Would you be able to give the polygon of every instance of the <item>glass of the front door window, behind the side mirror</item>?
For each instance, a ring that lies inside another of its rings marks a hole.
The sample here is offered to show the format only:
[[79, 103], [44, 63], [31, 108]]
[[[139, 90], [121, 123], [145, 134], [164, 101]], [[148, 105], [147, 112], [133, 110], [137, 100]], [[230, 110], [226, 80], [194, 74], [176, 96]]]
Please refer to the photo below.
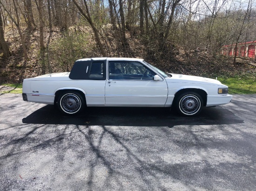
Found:
[[138, 62], [110, 61], [108, 78], [115, 80], [153, 80], [155, 72]]

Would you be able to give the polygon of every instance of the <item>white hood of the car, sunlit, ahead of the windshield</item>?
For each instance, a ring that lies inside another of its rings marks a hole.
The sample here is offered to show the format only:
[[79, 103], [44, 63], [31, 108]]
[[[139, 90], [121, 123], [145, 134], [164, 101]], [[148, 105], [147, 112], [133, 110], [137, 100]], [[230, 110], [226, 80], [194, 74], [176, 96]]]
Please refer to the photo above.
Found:
[[218, 80], [214, 80], [207, 77], [199, 77], [199, 76], [188, 76], [188, 75], [182, 75], [182, 74], [170, 74], [172, 77], [165, 78], [167, 82], [172, 83], [200, 83], [200, 84], [215, 84], [219, 85], [222, 84]]

